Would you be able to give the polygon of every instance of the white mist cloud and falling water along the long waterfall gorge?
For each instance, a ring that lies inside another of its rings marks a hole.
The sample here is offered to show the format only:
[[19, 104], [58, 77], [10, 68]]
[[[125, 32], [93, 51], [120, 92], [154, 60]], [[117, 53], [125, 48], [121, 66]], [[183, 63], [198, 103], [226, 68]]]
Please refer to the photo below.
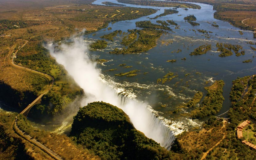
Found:
[[129, 116], [136, 129], [160, 143], [162, 147], [170, 149], [175, 139], [170, 128], [163, 120], [156, 117], [152, 109], [145, 103], [129, 99], [125, 93], [118, 94], [115, 89], [102, 82], [100, 70], [96, 69], [96, 63], [89, 59], [89, 50], [83, 40], [73, 38], [72, 44], [61, 44], [59, 46], [61, 50], [58, 51], [54, 50], [54, 47], [53, 44], [49, 44], [46, 48], [85, 92], [81, 106], [95, 101], [115, 105]]

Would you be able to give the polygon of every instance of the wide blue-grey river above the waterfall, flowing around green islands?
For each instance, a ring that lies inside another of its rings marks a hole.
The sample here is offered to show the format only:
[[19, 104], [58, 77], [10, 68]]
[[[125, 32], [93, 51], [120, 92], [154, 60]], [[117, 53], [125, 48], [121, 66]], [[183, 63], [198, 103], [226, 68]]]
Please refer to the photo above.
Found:
[[[93, 4], [103, 5], [101, 2], [105, 1], [107, 0], [96, 0]], [[115, 0], [108, 0], [108, 2], [118, 3]], [[186, 113], [190, 112], [191, 109], [182, 108], [178, 113], [172, 113], [179, 106], [188, 102], [196, 91], [202, 91], [206, 95], [204, 87], [211, 85], [214, 80], [223, 80], [225, 82], [223, 88], [225, 101], [223, 108], [216, 114], [220, 115], [230, 108], [229, 92], [232, 87], [232, 80], [256, 73], [256, 54], [250, 48], [250, 46], [256, 48], [256, 45], [249, 44], [249, 42], [255, 43], [253, 32], [242, 31], [243, 35], [240, 35], [238, 31], [241, 30], [239, 28], [213, 17], [215, 12], [213, 6], [202, 3], [195, 4], [202, 8], [188, 10], [178, 8], [179, 13], [157, 19], [149, 18], [155, 17], [163, 13], [164, 9], [170, 8], [124, 4], [130, 7], [160, 10], [152, 15], [138, 19], [110, 23], [108, 27], [111, 27], [111, 30], [104, 28], [95, 33], [84, 35], [84, 42], [89, 44], [101, 39], [100, 36], [115, 30], [127, 32], [128, 29], [135, 29], [136, 21], [150, 20], [152, 23], [157, 24], [156, 20], [174, 20], [179, 25], [178, 29], [175, 29], [175, 26], [170, 26], [173, 31], [167, 31], [167, 34], [163, 34], [157, 41], [157, 46], [147, 52], [140, 54], [109, 54], [109, 51], [115, 48], [124, 47], [120, 44], [122, 41], [121, 35], [117, 35], [113, 42], [107, 41], [108, 47], [106, 49], [89, 51], [92, 59], [109, 60], [104, 64], [97, 65], [97, 68], [101, 70], [100, 78], [104, 83], [118, 88], [120, 91], [125, 91], [127, 97], [131, 99], [136, 99], [152, 106], [157, 115], [164, 117], [166, 123], [172, 124], [176, 134], [189, 128], [200, 126], [202, 123], [199, 120], [192, 121], [187, 116]], [[199, 26], [193, 27], [183, 20], [189, 14], [193, 14], [197, 18], [196, 22], [200, 24]], [[213, 23], [218, 24], [219, 28], [212, 26], [211, 24]], [[198, 32], [197, 29], [208, 31], [209, 36]], [[245, 55], [237, 57], [233, 54], [228, 57], [219, 57], [220, 52], [217, 52], [216, 47], [218, 42], [241, 45], [245, 50]], [[212, 45], [211, 51], [203, 55], [189, 55], [195, 48], [206, 43]], [[181, 51], [177, 53], [178, 50]], [[186, 58], [186, 60], [181, 60], [182, 58]], [[177, 61], [174, 63], [166, 62], [171, 59], [176, 59]], [[252, 59], [252, 62], [242, 63], [242, 61], [248, 59]], [[132, 68], [119, 66], [123, 63], [127, 66], [132, 66]], [[108, 71], [109, 69], [116, 70]], [[137, 76], [115, 76], [115, 74], [134, 69], [140, 70]], [[171, 81], [166, 81], [164, 84], [161, 82], [157, 84], [157, 79], [163, 78], [168, 72], [173, 72], [178, 76]], [[166, 105], [166, 107], [161, 107], [161, 105]]]

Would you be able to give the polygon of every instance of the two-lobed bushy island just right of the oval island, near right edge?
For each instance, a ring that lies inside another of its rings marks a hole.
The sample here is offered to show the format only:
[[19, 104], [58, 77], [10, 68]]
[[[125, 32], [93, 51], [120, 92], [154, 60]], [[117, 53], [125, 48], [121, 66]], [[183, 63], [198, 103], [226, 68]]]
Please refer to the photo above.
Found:
[[[218, 47], [217, 51], [221, 51], [221, 54], [219, 54], [219, 57], [226, 57], [226, 56], [231, 56], [233, 55], [232, 50], [234, 51], [236, 56], [240, 56], [240, 55], [244, 55], [245, 51], [242, 50], [243, 47], [236, 44], [236, 45], [232, 45], [232, 44], [227, 44], [227, 43], [217, 43], [216, 47]], [[239, 50], [241, 50], [241, 52], [239, 52]]]

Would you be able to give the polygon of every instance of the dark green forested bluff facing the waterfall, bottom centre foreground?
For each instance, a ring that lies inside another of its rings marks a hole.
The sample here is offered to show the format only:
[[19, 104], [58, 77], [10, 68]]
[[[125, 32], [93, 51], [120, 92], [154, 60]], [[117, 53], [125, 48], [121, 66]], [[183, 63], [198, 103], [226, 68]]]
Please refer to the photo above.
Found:
[[105, 102], [80, 108], [70, 136], [101, 159], [171, 159], [171, 152], [137, 131], [121, 109]]

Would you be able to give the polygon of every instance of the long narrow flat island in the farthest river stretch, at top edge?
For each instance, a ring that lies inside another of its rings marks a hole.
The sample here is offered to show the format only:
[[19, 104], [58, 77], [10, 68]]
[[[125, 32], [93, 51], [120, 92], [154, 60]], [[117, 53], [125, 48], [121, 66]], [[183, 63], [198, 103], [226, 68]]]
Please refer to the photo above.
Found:
[[144, 1], [144, 0], [117, 0], [120, 3], [128, 3], [133, 5], [142, 6], [157, 6], [157, 7], [175, 7], [175, 8], [193, 8], [201, 9], [201, 6], [190, 3], [179, 3], [179, 2], [167, 2], [167, 1]]

